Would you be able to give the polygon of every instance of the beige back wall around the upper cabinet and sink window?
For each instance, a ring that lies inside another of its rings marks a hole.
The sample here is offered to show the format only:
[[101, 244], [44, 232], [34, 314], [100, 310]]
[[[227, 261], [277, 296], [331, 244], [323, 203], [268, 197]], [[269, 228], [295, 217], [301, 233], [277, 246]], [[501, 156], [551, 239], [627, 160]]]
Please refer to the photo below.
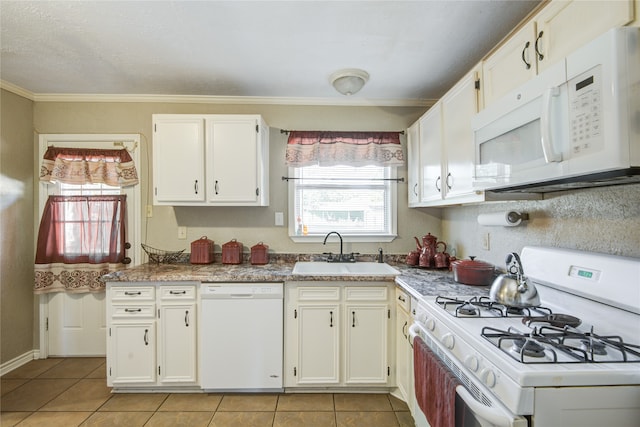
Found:
[[[152, 145], [151, 115], [153, 113], [224, 113], [262, 114], [271, 126], [270, 132], [270, 205], [268, 207], [153, 207], [152, 218], [142, 218], [143, 241], [161, 249], [189, 251], [191, 241], [208, 236], [220, 245], [237, 238], [246, 247], [263, 241], [278, 253], [320, 253], [322, 244], [295, 244], [288, 237], [287, 227], [274, 225], [275, 212], [285, 213], [287, 221], [288, 174], [284, 165], [285, 134], [280, 129], [294, 130], [403, 130], [426, 108], [409, 107], [335, 107], [283, 105], [213, 105], [179, 103], [64, 103], [37, 102], [34, 123], [38, 133], [140, 133], [142, 134], [142, 164], [140, 176], [143, 205], [150, 198]], [[407, 177], [406, 168], [398, 171]], [[430, 231], [440, 233], [440, 211], [407, 208], [407, 184], [398, 184], [398, 234], [391, 243], [349, 244], [345, 252], [406, 253], [415, 243], [413, 236]], [[144, 209], [143, 209], [144, 212]], [[144, 214], [143, 214], [144, 215]], [[177, 239], [177, 227], [186, 226], [187, 239]], [[247, 250], [247, 248], [245, 248]], [[333, 252], [333, 248], [329, 249]]]

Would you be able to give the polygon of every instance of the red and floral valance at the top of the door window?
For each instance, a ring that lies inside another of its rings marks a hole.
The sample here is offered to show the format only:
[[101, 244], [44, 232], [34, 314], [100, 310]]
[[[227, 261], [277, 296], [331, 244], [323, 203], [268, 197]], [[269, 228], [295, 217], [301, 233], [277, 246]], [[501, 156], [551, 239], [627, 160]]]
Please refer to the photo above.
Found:
[[127, 187], [138, 183], [138, 172], [126, 149], [49, 147], [42, 159], [40, 181]]

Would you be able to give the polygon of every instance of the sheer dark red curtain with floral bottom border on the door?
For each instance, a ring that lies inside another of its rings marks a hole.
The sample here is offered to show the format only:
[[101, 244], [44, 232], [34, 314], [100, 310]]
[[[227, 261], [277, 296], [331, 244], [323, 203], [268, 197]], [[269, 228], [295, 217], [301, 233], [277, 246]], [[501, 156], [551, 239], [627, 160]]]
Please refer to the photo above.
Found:
[[126, 196], [49, 196], [38, 232], [35, 293], [97, 292], [123, 267]]

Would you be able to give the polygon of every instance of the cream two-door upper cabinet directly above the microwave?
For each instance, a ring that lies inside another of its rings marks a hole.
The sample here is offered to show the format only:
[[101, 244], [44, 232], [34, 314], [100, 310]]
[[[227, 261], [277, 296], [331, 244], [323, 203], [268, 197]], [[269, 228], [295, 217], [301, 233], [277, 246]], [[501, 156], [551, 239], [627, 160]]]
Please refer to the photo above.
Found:
[[555, 0], [483, 62], [488, 106], [573, 50], [633, 20], [633, 0]]

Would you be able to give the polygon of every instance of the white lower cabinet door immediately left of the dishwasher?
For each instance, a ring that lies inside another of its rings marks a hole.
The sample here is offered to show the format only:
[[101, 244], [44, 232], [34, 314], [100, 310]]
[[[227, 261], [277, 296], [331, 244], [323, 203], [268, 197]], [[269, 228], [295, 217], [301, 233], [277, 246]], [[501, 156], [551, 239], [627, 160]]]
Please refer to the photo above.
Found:
[[160, 307], [158, 362], [161, 383], [196, 382], [196, 319], [195, 302]]

